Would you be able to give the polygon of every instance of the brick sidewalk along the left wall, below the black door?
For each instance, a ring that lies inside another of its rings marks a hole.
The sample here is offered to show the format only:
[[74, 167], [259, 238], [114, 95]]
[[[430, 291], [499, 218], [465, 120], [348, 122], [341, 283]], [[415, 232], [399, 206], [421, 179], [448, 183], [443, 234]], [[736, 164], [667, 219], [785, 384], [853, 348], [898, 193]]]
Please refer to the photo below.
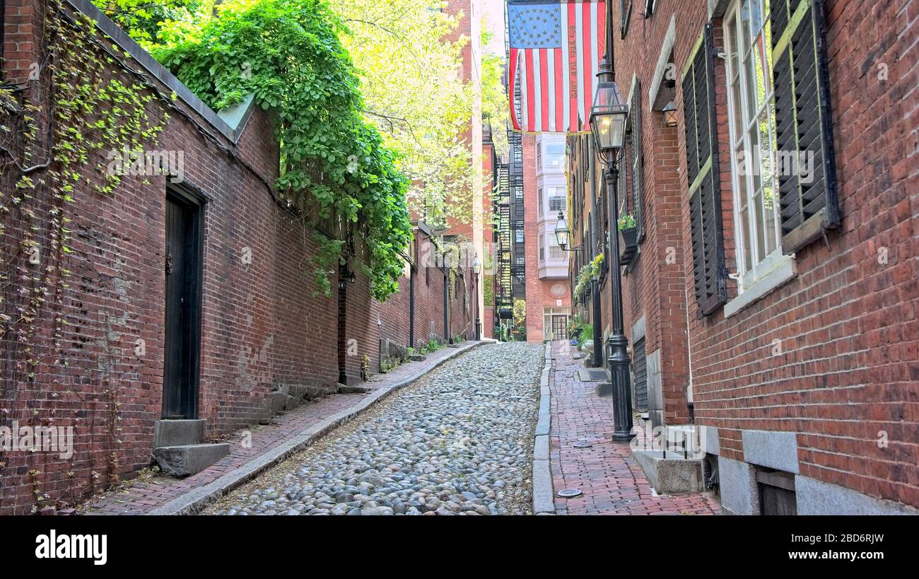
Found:
[[[471, 345], [467, 342], [463, 346]], [[467, 348], [461, 347], [465, 350]], [[229, 438], [230, 454], [225, 458], [210, 465], [204, 471], [193, 474], [184, 479], [173, 479], [157, 476], [143, 481], [132, 481], [125, 488], [115, 489], [90, 501], [90, 504], [79, 509], [85, 515], [143, 515], [154, 508], [163, 506], [173, 499], [212, 483], [227, 472], [234, 471], [244, 464], [265, 455], [273, 448], [287, 442], [290, 438], [300, 435], [304, 430], [314, 426], [326, 417], [346, 411], [348, 408], [361, 403], [370, 392], [389, 387], [413, 374], [434, 369], [438, 362], [459, 353], [457, 348], [445, 347], [433, 354], [429, 354], [424, 362], [407, 362], [388, 374], [372, 377], [360, 386], [368, 388], [369, 392], [335, 394], [304, 404], [300, 408], [285, 414], [279, 414], [267, 426], [252, 426], [248, 432], [252, 434], [252, 445], [245, 448], [242, 444], [244, 432], [236, 432]]]

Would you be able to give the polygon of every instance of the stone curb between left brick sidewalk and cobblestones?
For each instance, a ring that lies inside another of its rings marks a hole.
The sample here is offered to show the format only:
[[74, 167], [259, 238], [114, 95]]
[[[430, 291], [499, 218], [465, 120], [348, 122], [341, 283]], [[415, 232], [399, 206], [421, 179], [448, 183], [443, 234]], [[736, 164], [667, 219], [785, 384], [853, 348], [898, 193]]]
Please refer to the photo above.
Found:
[[419, 370], [408, 378], [372, 392], [366, 398], [361, 399], [357, 404], [328, 416], [323, 421], [302, 431], [296, 437], [290, 438], [279, 447], [268, 450], [265, 454], [255, 457], [255, 459], [250, 460], [233, 471], [227, 472], [215, 481], [211, 481], [210, 483], [188, 491], [186, 494], [177, 496], [165, 505], [154, 508], [149, 513], [146, 513], [146, 515], [194, 515], [198, 513], [206, 506], [215, 503], [224, 494], [228, 494], [244, 483], [248, 483], [257, 475], [267, 471], [267, 469], [275, 466], [278, 462], [289, 458], [289, 456], [295, 452], [309, 447], [331, 430], [334, 430], [336, 426], [341, 426], [350, 422], [357, 417], [358, 414], [367, 411], [371, 406], [379, 403], [380, 400], [386, 398], [392, 392], [396, 392], [412, 384], [415, 380], [420, 379], [431, 370], [437, 369], [448, 360], [456, 358], [474, 347], [482, 346], [482, 344], [485, 344], [485, 342], [472, 342], [468, 346], [459, 346], [459, 348], [451, 352], [448, 356], [437, 360], [430, 368]]

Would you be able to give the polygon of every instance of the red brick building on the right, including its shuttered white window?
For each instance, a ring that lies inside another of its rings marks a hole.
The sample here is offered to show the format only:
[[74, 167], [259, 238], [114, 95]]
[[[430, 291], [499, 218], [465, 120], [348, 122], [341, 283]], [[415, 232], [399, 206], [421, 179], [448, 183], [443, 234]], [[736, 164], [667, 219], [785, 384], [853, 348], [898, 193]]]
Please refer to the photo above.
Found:
[[[613, 11], [619, 199], [642, 237], [626, 335], [652, 423], [698, 426], [726, 512], [914, 513], [919, 4]], [[592, 146], [569, 142], [574, 232], [606, 221]]]

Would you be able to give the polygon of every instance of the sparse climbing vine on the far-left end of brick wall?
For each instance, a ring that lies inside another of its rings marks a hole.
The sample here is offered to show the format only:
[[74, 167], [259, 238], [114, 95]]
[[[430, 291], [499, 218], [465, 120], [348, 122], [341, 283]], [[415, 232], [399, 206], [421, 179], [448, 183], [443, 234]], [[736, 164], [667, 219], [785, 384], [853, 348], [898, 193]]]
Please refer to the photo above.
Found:
[[[6, 367], [0, 414], [23, 410], [15, 397], [39, 368], [67, 366], [64, 298], [71, 272], [71, 213], [79, 195], [109, 195], [121, 173], [109, 167], [111, 153], [141, 154], [156, 142], [168, 115], [142, 82], [122, 82], [111, 72], [119, 50], [103, 40], [89, 18], [68, 12], [62, 0], [45, 3], [38, 62], [21, 84], [0, 86], [0, 341]], [[129, 76], [130, 78], [130, 76]], [[38, 90], [30, 90], [38, 88]], [[36, 98], [35, 103], [31, 98]], [[45, 321], [50, 322], [50, 326]], [[106, 388], [110, 408], [108, 471], [118, 471], [120, 415], [117, 392]], [[51, 398], [82, 395], [61, 388]], [[94, 399], [90, 402], [97, 402]], [[12, 410], [11, 410], [12, 408]], [[28, 419], [51, 424], [54, 410]], [[96, 427], [90, 425], [93, 431]], [[0, 469], [5, 465], [0, 460]], [[36, 469], [32, 471], [40, 472]], [[37, 504], [47, 498], [33, 474]], [[0, 477], [2, 478], [2, 477]], [[114, 477], [113, 477], [114, 478]]]

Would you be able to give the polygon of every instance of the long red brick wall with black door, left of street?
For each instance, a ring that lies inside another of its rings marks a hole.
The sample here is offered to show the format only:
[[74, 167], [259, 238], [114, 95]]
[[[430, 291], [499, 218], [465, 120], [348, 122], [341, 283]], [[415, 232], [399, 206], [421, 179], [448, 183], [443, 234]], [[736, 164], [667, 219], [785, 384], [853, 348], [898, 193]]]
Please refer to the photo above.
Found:
[[[48, 127], [54, 91], [64, 90], [51, 89], [46, 74], [29, 78], [33, 62], [45, 56], [43, 29], [51, 17], [45, 7], [38, 0], [8, 0], [3, 15], [4, 79], [18, 83], [22, 101], [38, 107], [38, 135]], [[269, 418], [272, 391], [280, 387], [331, 393], [340, 381], [361, 380], [365, 364], [377, 371], [381, 338], [409, 345], [413, 307], [416, 341], [472, 337], [472, 276], [462, 270], [456, 275], [445, 332], [448, 276], [408, 253], [414, 260], [414, 305], [407, 298], [407, 277], [391, 301], [374, 301], [369, 279], [356, 264], [350, 264], [351, 280], [332, 272], [333, 295], [323, 296], [310, 273], [317, 247], [309, 227], [273, 195], [278, 142], [270, 112], [250, 103], [215, 113], [89, 2], [73, 0], [68, 10], [94, 18], [128, 53], [124, 66], [112, 64], [101, 74], [122, 83], [148, 79], [147, 94], [159, 92], [167, 100], [176, 93], [155, 147], [184, 153], [184, 178], [173, 183], [168, 176], [124, 176], [114, 192], [100, 195], [91, 187], [104, 178], [95, 162], [79, 169], [74, 202], [64, 206], [73, 220], [72, 253], [60, 264], [73, 272], [69, 286], [51, 274], [58, 297], [39, 309], [28, 350], [8, 333], [0, 357], [0, 426], [74, 426], [74, 453], [67, 459], [49, 452], [0, 453], [0, 513], [28, 513], [38, 496], [46, 504], [73, 504], [150, 464], [154, 423], [168, 414], [164, 372], [171, 290], [165, 272], [179, 259], [199, 273], [191, 284], [197, 290], [188, 294], [197, 303], [189, 306], [193, 323], [182, 349], [191, 352], [195, 375], [182, 394], [190, 398], [183, 412], [207, 421], [206, 439]], [[155, 100], [149, 105], [157, 106]], [[13, 153], [21, 157], [23, 143], [14, 144], [19, 149]], [[39, 137], [35, 158], [48, 146]], [[14, 168], [5, 167], [4, 190], [18, 179]], [[52, 203], [44, 187], [36, 187], [33, 197], [39, 210]], [[186, 261], [170, 249], [174, 219], [189, 231], [198, 228], [185, 238], [199, 248], [197, 263], [195, 255]], [[27, 223], [23, 211], [4, 213], [3, 251], [14, 258], [5, 266], [6, 276], [47, 265], [29, 262], [17, 247], [17, 233]], [[415, 254], [424, 240], [425, 234], [417, 236]], [[46, 234], [38, 236], [42, 249], [50, 243]], [[5, 289], [3, 297], [6, 314], [22, 307], [22, 296]], [[26, 367], [28, 359], [40, 360], [34, 371]]]

